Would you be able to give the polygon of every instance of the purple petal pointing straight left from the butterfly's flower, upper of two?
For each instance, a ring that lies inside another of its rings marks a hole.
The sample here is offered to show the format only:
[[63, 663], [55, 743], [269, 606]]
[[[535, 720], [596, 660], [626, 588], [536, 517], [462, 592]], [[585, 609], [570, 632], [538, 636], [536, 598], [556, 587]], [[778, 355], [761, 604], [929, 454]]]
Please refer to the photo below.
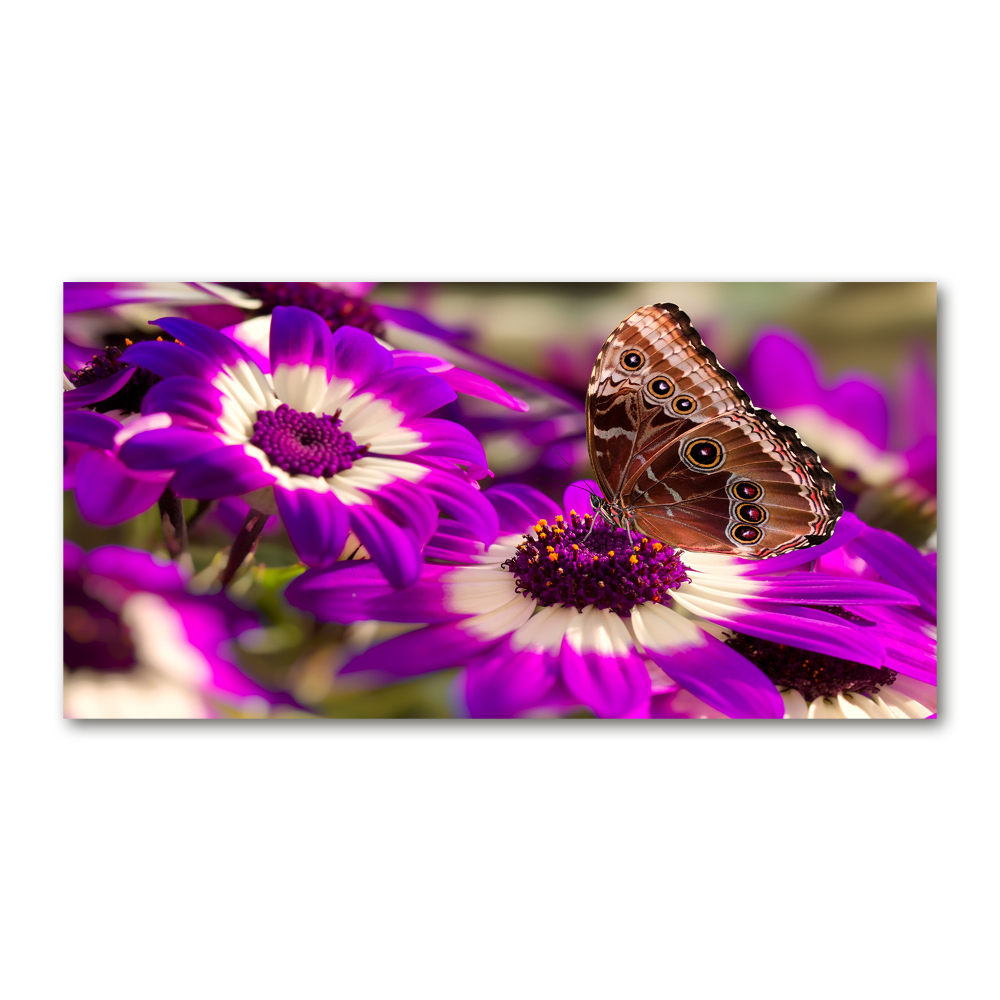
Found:
[[374, 563], [347, 560], [325, 569], [306, 570], [288, 585], [285, 598], [320, 621], [344, 625], [360, 621], [455, 621], [462, 616], [444, 608], [440, 582], [448, 572], [448, 567], [425, 566], [416, 583], [397, 590]]

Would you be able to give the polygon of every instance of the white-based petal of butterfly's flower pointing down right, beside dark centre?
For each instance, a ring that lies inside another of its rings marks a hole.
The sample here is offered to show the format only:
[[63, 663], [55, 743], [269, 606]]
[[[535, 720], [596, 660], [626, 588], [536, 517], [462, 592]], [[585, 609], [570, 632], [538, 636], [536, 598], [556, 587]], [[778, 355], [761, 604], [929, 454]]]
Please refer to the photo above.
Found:
[[706, 705], [741, 719], [780, 719], [777, 688], [749, 660], [669, 608], [636, 608], [636, 638], [674, 681]]

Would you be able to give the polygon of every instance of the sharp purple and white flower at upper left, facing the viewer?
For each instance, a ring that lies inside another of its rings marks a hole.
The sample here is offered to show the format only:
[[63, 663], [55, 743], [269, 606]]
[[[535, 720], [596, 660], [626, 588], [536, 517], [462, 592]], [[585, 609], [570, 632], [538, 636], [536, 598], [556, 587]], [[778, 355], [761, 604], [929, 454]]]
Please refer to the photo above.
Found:
[[[182, 497], [239, 496], [263, 524], [279, 514], [299, 558], [332, 563], [353, 532], [394, 585], [413, 582], [439, 510], [484, 541], [496, 515], [474, 482], [487, 474], [463, 427], [427, 414], [455, 399], [436, 375], [316, 313], [274, 311], [266, 375], [230, 337], [185, 319], [158, 326], [181, 343], [134, 344], [123, 359], [163, 378], [143, 413], [169, 426], [125, 442], [140, 471], [176, 469]], [[466, 471], [467, 470], [467, 471]]]

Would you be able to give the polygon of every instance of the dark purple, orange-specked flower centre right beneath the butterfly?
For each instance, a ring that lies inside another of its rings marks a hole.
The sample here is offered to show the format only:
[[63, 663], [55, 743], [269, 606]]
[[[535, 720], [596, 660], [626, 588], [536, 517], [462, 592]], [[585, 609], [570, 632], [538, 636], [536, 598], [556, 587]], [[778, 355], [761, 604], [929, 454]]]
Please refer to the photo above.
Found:
[[630, 539], [621, 528], [576, 511], [568, 521], [562, 514], [554, 524], [539, 521], [503, 568], [514, 574], [518, 593], [543, 607], [607, 608], [620, 615], [637, 604], [668, 602], [669, 592], [688, 579], [673, 549]]

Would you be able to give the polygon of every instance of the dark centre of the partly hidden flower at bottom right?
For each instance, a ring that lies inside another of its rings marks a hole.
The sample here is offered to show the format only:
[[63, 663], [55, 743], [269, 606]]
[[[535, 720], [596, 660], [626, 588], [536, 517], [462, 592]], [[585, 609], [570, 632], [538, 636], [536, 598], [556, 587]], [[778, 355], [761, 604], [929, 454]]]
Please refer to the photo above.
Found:
[[[871, 624], [843, 608], [822, 610], [849, 621]], [[836, 698], [845, 691], [872, 695], [896, 679], [896, 671], [889, 667], [869, 667], [748, 635], [735, 635], [728, 644], [756, 664], [780, 690], [792, 688], [806, 701]]]

